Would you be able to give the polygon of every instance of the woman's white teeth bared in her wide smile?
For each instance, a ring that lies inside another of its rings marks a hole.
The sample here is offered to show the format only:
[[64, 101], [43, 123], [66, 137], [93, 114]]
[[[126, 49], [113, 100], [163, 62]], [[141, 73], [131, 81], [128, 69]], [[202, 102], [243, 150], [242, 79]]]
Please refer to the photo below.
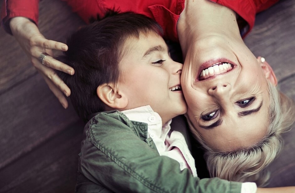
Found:
[[209, 68], [203, 69], [199, 74], [199, 80], [206, 80], [212, 76], [218, 74], [224, 74], [233, 69], [234, 65], [226, 62], [218, 62], [210, 66]]

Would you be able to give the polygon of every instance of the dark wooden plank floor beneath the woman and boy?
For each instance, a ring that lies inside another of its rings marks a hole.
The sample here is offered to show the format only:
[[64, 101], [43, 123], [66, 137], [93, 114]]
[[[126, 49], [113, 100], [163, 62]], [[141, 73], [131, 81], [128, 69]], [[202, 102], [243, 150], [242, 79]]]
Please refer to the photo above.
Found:
[[[60, 0], [40, 3], [40, 31], [63, 41], [83, 21]], [[245, 39], [273, 67], [281, 90], [295, 100], [295, 1], [257, 16]], [[73, 192], [83, 122], [64, 110], [15, 39], [0, 30], [0, 192]], [[295, 119], [295, 118], [294, 118]], [[271, 165], [269, 186], [295, 185], [295, 130]]]

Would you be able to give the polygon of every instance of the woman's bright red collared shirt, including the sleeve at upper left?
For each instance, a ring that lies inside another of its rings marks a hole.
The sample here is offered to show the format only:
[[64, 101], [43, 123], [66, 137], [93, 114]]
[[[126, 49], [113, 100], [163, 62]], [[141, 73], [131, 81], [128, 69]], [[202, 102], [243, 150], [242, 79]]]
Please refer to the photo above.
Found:
[[[120, 12], [133, 11], [156, 20], [164, 30], [164, 37], [178, 41], [176, 24], [184, 8], [185, 0], [63, 0], [86, 23], [97, 14], [103, 16], [107, 9]], [[248, 25], [240, 26], [241, 35], [246, 36], [254, 26], [256, 13], [269, 8], [279, 0], [211, 0], [235, 11]], [[1, 24], [11, 34], [8, 21], [23, 16], [38, 24], [39, 0], [3, 0]]]

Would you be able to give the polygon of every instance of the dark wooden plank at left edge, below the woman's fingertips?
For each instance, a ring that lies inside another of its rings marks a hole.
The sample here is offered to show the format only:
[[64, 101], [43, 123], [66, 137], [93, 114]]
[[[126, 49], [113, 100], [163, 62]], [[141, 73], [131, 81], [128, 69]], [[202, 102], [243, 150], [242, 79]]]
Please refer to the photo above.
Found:
[[0, 168], [79, 120], [42, 80], [36, 74], [0, 96]]

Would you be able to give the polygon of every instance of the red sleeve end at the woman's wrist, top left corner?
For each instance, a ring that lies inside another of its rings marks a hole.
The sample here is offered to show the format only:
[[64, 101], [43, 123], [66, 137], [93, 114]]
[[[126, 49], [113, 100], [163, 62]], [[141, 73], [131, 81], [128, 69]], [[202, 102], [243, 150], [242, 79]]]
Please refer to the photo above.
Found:
[[37, 25], [39, 0], [3, 0], [1, 5], [1, 25], [7, 33], [12, 34], [9, 20], [19, 16], [26, 17]]

